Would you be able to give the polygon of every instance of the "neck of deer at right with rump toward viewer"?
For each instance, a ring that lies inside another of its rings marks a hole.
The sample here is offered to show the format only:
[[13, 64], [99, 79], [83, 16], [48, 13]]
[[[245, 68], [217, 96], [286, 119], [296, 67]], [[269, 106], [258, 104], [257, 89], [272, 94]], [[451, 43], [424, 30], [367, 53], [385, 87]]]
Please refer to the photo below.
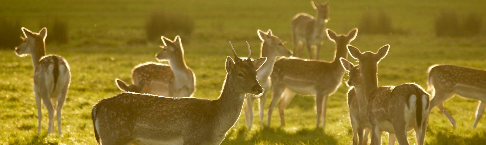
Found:
[[364, 79], [364, 96], [365, 98], [371, 98], [371, 94], [378, 88], [378, 64], [366, 65], [360, 62], [361, 73]]

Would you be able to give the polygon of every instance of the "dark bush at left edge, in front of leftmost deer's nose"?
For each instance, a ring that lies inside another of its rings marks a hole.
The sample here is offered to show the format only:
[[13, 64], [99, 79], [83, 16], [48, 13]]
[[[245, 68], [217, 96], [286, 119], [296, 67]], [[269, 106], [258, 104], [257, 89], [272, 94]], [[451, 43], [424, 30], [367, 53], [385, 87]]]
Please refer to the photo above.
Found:
[[20, 30], [20, 21], [8, 21], [5, 17], [0, 16], [0, 48], [12, 49], [18, 46], [23, 36], [22, 30]]

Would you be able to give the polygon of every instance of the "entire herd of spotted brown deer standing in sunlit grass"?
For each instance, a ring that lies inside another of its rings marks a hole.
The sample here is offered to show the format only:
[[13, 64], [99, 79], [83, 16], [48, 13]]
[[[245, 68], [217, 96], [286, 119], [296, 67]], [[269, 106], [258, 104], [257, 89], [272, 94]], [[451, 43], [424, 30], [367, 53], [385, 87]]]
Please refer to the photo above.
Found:
[[[352, 29], [347, 35], [338, 35], [326, 29], [329, 2], [314, 3], [317, 16], [297, 14], [292, 20], [295, 55], [301, 56], [301, 47], [307, 46], [311, 59], [291, 57], [293, 53], [269, 29], [258, 30], [260, 58], [239, 58], [231, 46], [234, 59], [226, 58], [226, 79], [221, 95], [216, 100], [193, 98], [195, 75], [184, 61], [181, 38], [161, 37], [164, 46], [156, 54], [159, 61], [170, 65], [147, 62], [132, 70], [132, 84], [116, 79], [117, 86], [126, 91], [101, 100], [94, 105], [92, 121], [99, 144], [162, 144], [162, 145], [219, 145], [226, 132], [238, 120], [246, 99], [245, 119], [248, 127], [253, 122], [253, 102], [260, 99], [260, 124], [270, 126], [275, 105], [278, 104], [281, 126], [285, 126], [284, 110], [295, 94], [312, 95], [316, 99], [316, 127], [325, 126], [326, 104], [329, 96], [341, 85], [343, 75], [349, 72], [347, 85], [349, 116], [353, 131], [353, 145], [381, 145], [381, 133], [389, 133], [389, 144], [398, 140], [408, 145], [407, 131], [416, 131], [418, 145], [424, 144], [430, 110], [437, 106], [456, 127], [456, 122], [445, 110], [444, 102], [455, 94], [479, 100], [476, 127], [486, 107], [486, 71], [454, 65], [433, 65], [428, 71], [430, 95], [414, 83], [398, 86], [378, 86], [378, 63], [390, 45], [377, 53], [364, 52], [350, 45], [358, 33]], [[42, 102], [49, 112], [48, 132], [54, 132], [54, 114], [61, 135], [61, 110], [70, 83], [69, 65], [57, 55], [46, 55], [47, 29], [38, 33], [22, 28], [24, 42], [15, 52], [18, 56], [32, 56], [34, 90], [37, 104], [38, 133], [40, 133]], [[318, 59], [319, 48], [325, 38], [336, 45], [334, 60]], [[230, 43], [231, 44], [231, 43]], [[359, 65], [347, 61], [348, 53], [359, 60]], [[316, 58], [316, 59], [312, 59]], [[266, 94], [272, 87], [272, 102], [264, 124], [263, 108]], [[156, 96], [160, 95], [160, 96]], [[257, 97], [254, 97], [257, 96]], [[259, 97], [260, 96], [260, 97]], [[282, 99], [280, 99], [282, 98]]]

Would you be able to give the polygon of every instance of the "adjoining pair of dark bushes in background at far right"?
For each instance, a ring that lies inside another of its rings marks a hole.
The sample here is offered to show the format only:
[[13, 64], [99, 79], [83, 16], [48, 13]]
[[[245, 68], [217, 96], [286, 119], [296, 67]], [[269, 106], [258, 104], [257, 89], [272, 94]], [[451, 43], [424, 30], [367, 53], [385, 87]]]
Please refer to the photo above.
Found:
[[[462, 24], [462, 25], [461, 25]], [[444, 10], [435, 17], [435, 34], [438, 37], [475, 36], [481, 32], [483, 17], [470, 13], [462, 23], [453, 10]]]

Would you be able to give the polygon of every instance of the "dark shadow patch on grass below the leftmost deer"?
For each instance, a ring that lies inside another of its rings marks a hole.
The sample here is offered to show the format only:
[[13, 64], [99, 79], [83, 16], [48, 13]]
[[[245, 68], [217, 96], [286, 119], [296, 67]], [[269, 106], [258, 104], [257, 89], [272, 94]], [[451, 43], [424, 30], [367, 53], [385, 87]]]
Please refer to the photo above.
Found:
[[27, 136], [26, 138], [15, 139], [8, 144], [9, 145], [59, 145], [59, 143], [57, 143], [57, 140], [53, 140], [53, 141], [54, 142], [48, 139], [47, 134], [42, 134], [42, 135], [33, 134], [31, 136]]

